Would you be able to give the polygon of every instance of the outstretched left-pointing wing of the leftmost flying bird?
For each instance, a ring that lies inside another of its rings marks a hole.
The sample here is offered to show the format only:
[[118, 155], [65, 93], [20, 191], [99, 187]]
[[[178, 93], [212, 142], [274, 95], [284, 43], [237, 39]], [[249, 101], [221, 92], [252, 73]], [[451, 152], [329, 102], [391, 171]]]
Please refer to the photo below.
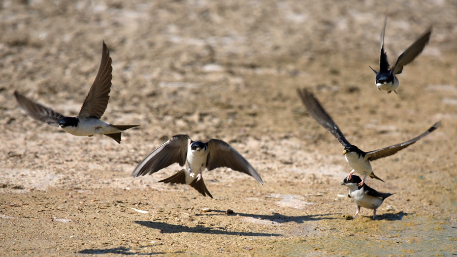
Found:
[[28, 116], [46, 122], [49, 125], [59, 126], [59, 120], [65, 116], [53, 111], [51, 108], [40, 105], [24, 97], [24, 95], [14, 91], [14, 97], [19, 105], [24, 109]]

